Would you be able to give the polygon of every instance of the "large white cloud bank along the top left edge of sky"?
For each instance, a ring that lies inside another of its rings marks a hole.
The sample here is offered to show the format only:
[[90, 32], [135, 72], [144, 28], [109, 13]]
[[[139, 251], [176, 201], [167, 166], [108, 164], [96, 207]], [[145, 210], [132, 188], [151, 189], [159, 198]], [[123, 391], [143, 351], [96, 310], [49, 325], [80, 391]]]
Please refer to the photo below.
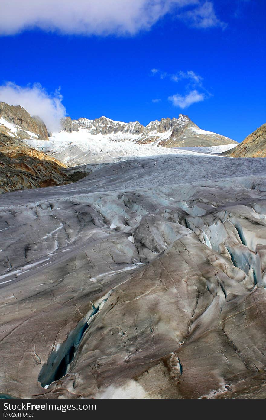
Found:
[[199, 0], [5, 0], [0, 33], [16, 34], [38, 27], [64, 34], [135, 34], [149, 29], [167, 13], [197, 5]]

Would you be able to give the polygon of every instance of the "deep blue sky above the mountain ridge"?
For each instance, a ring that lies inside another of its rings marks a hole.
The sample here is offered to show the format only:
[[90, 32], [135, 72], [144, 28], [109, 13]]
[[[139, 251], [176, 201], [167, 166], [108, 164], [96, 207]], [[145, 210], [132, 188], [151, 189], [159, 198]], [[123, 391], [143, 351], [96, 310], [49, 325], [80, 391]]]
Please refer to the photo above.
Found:
[[[104, 8], [106, 0], [101, 1]], [[0, 84], [28, 85], [29, 92], [39, 83], [50, 99], [60, 87], [59, 102], [73, 119], [105, 115], [146, 125], [183, 113], [200, 128], [237, 141], [266, 122], [263, 0], [174, 0], [178, 7], [173, 0], [153, 0], [158, 4], [149, 18], [131, 11], [133, 23], [119, 1], [116, 25], [112, 16], [107, 25], [102, 9], [93, 15], [95, 25], [87, 20], [82, 30], [80, 23], [68, 29], [71, 11], [59, 22], [47, 16], [43, 24], [35, 23], [40, 11], [31, 22], [16, 16], [13, 29], [7, 24], [0, 36]], [[13, 24], [12, 2], [4, 12]], [[85, 3], [81, 0], [84, 11]], [[32, 7], [31, 0], [27, 5]], [[7, 102], [5, 95], [0, 88]]]

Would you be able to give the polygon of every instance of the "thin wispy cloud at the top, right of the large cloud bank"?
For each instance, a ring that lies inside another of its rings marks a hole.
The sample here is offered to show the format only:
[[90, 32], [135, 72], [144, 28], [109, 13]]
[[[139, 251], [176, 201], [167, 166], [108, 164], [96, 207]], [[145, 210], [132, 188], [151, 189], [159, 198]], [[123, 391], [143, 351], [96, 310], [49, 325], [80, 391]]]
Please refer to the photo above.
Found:
[[205, 29], [213, 27], [226, 28], [227, 24], [220, 21], [214, 11], [213, 3], [211, 1], [205, 1], [190, 11], [179, 14], [179, 18], [187, 21], [188, 24], [195, 28]]

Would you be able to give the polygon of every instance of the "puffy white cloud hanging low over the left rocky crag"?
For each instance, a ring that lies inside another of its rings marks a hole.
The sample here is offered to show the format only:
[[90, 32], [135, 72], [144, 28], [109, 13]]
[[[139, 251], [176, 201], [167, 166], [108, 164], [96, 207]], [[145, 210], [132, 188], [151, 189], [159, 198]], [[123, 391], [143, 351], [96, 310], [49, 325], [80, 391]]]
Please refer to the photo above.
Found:
[[28, 113], [38, 115], [48, 131], [57, 131], [59, 121], [66, 115], [60, 89], [49, 95], [39, 84], [21, 87], [12, 82], [0, 86], [0, 100], [9, 105], [21, 105]]

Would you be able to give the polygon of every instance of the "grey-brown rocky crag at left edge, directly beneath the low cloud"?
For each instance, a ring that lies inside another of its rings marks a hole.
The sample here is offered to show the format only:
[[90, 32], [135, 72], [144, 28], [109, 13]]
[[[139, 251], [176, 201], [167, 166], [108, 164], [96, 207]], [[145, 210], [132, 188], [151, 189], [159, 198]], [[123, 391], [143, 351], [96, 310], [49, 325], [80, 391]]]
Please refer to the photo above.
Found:
[[19, 105], [8, 105], [0, 102], [0, 118], [15, 124], [21, 129], [37, 134], [40, 139], [48, 140], [48, 131], [45, 123], [38, 116], [31, 117], [29, 113]]

